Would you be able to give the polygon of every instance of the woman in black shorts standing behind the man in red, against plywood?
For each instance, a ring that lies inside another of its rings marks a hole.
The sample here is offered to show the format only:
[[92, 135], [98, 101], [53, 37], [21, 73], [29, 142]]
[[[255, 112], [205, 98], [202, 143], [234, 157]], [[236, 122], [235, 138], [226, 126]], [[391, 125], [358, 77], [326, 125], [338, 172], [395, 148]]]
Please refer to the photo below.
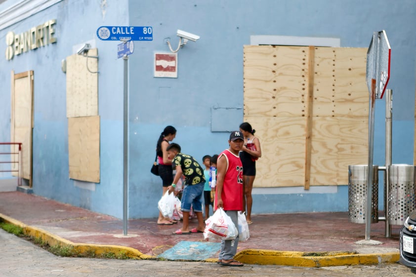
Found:
[[249, 122], [242, 123], [240, 125], [240, 131], [244, 136], [244, 146], [240, 151], [240, 159], [243, 164], [243, 210], [246, 211], [247, 223], [251, 224], [251, 206], [253, 204], [251, 191], [256, 173], [255, 161], [261, 157], [261, 149], [260, 141], [254, 136], [255, 130]]

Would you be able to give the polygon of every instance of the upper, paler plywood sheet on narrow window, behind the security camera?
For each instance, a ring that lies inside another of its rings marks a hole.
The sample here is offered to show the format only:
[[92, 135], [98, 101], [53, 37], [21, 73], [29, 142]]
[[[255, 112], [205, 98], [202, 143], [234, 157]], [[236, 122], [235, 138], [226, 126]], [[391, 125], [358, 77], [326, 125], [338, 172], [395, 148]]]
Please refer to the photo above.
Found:
[[[97, 56], [97, 48], [88, 51]], [[98, 115], [98, 59], [72, 55], [66, 58], [67, 118]], [[88, 61], [88, 69], [86, 62]]]

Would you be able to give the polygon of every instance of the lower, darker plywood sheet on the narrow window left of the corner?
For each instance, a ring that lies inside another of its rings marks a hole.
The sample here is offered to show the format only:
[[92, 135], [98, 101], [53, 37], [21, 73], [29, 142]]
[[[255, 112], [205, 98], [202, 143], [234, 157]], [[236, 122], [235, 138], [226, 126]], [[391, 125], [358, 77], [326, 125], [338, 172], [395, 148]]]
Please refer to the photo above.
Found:
[[68, 119], [69, 177], [100, 182], [100, 117]]

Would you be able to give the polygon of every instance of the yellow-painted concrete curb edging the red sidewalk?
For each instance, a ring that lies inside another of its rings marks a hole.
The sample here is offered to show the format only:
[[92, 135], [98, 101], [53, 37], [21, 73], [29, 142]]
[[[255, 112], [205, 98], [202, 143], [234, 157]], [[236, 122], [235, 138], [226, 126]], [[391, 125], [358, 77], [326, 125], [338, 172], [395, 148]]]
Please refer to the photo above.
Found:
[[[119, 245], [101, 245], [74, 243], [65, 238], [55, 236], [42, 229], [25, 225], [24, 223], [0, 213], [0, 219], [4, 222], [23, 228], [25, 235], [41, 238], [50, 246], [72, 246], [80, 254], [94, 253], [96, 255], [112, 252], [124, 254], [131, 259], [157, 259], [156, 256], [145, 255], [137, 249]], [[396, 263], [399, 261], [399, 252], [389, 253], [356, 253], [356, 252], [297, 252], [275, 251], [263, 249], [245, 249], [235, 256], [235, 259], [245, 264], [256, 265], [281, 265], [294, 267], [333, 267], [349, 265], [377, 265]], [[206, 262], [216, 262], [209, 258]]]

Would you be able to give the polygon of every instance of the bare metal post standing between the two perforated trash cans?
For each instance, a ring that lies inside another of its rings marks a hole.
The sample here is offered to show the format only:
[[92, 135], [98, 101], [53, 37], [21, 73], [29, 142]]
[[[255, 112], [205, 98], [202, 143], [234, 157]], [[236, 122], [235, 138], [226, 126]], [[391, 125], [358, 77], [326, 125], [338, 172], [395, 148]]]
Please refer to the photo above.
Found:
[[391, 137], [392, 137], [392, 108], [393, 108], [393, 90], [387, 89], [386, 90], [386, 171], [385, 171], [385, 188], [384, 188], [384, 216], [386, 218], [385, 221], [385, 230], [384, 235], [385, 237], [391, 237], [391, 225], [390, 225], [390, 216], [388, 213], [388, 206], [389, 206], [389, 187], [390, 187], [390, 174], [389, 174], [389, 166], [391, 165]]

